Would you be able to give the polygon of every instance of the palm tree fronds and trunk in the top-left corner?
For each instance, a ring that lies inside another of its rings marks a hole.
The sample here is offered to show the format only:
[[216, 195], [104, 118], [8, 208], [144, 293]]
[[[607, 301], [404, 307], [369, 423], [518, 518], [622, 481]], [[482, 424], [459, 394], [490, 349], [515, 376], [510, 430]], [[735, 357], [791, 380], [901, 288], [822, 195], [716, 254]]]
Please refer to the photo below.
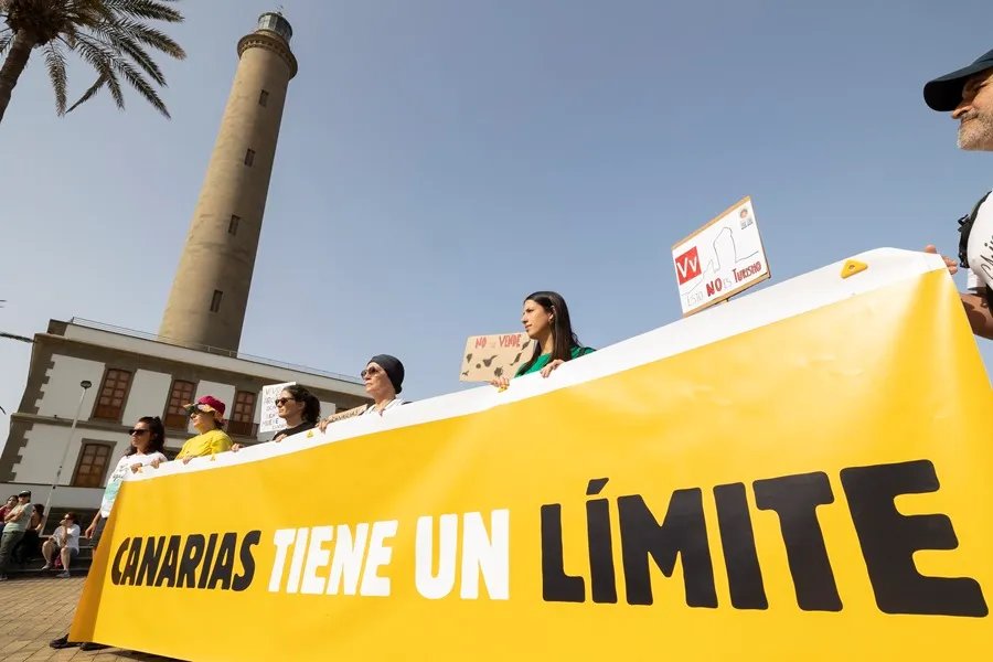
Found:
[[[40, 50], [55, 88], [55, 110], [62, 116], [106, 87], [124, 108], [121, 78], [166, 117], [169, 110], [152, 83], [166, 78], [148, 49], [182, 60], [183, 49], [145, 21], [180, 23], [183, 15], [169, 3], [175, 0], [0, 0], [0, 121], [10, 94], [31, 52]], [[4, 24], [6, 23], [6, 24]], [[96, 70], [96, 82], [66, 108], [66, 52], [74, 52]], [[149, 82], [151, 78], [151, 82]]]

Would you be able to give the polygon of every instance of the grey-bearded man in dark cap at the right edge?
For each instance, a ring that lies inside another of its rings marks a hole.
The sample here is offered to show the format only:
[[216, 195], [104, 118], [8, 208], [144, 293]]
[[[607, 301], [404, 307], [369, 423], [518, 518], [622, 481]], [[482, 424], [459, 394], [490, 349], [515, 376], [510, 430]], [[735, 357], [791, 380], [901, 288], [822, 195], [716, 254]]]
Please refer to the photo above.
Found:
[[[993, 151], [993, 51], [972, 64], [935, 78], [925, 85], [925, 102], [935, 110], [951, 113], [959, 121], [959, 147]], [[960, 221], [959, 261], [968, 267], [971, 292], [962, 303], [976, 335], [993, 339], [993, 201], [983, 196]], [[925, 250], [937, 253], [933, 246]], [[955, 260], [946, 257], [949, 271]]]

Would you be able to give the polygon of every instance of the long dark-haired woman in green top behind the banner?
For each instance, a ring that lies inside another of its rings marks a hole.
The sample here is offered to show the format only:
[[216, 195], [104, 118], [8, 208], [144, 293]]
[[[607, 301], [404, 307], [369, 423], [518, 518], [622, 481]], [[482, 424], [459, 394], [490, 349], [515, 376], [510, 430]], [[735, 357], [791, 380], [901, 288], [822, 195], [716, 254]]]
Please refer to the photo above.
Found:
[[[531, 360], [517, 369], [515, 377], [534, 372], [541, 372], [543, 377], [547, 377], [566, 361], [596, 351], [579, 344], [579, 339], [573, 332], [569, 309], [558, 292], [540, 291], [528, 295], [524, 299], [521, 323], [535, 345]], [[490, 383], [499, 388], [506, 388], [510, 380], [499, 377]]]

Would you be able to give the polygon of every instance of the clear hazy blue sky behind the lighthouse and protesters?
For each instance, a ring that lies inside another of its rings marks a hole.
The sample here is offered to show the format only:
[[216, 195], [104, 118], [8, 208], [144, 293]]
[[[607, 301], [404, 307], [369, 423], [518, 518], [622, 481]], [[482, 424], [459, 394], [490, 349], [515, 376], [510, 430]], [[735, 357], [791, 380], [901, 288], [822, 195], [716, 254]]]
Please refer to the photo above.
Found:
[[[181, 2], [171, 121], [54, 114], [35, 56], [0, 124], [0, 330], [156, 331], [257, 0]], [[405, 395], [562, 291], [604, 346], [680, 317], [671, 244], [748, 194], [782, 281], [879, 246], [946, 252], [993, 185], [921, 86], [993, 47], [989, 2], [286, 1], [290, 84], [242, 350]], [[71, 70], [71, 93], [90, 82]], [[993, 343], [980, 341], [987, 366]], [[0, 342], [0, 406], [30, 348]], [[0, 417], [0, 440], [7, 417]]]

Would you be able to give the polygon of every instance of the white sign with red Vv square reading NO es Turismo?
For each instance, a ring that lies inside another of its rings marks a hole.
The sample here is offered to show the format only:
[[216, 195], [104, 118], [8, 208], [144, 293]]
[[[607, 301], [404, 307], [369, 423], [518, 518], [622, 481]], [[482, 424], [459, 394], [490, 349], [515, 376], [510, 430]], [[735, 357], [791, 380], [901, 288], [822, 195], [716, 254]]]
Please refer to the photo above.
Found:
[[674, 244], [672, 263], [684, 317], [769, 278], [751, 197]]

